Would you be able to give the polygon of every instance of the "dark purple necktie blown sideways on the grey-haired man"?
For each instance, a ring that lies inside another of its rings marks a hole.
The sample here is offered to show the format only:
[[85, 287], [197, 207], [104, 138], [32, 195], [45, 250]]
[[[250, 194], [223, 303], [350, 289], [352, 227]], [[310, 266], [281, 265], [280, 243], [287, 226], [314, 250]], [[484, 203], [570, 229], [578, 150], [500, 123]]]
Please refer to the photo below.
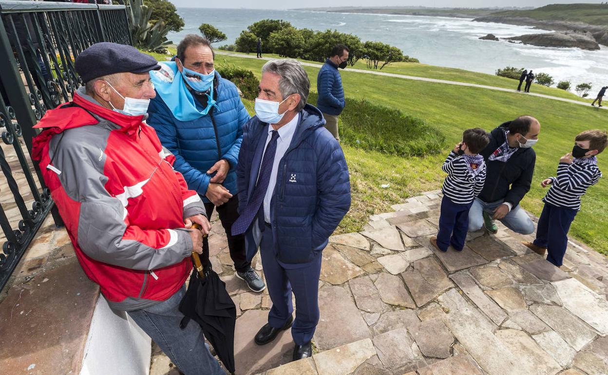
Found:
[[249, 225], [254, 221], [255, 215], [260, 211], [260, 207], [264, 202], [264, 196], [266, 196], [266, 190], [268, 190], [268, 184], [270, 182], [270, 175], [272, 173], [272, 164], [274, 163], [274, 154], [277, 151], [277, 139], [278, 132], [272, 131], [272, 138], [266, 146], [264, 151], [264, 158], [262, 159], [260, 174], [258, 174], [258, 182], [255, 185], [254, 192], [251, 195], [251, 199], [241, 212], [241, 216], [238, 217], [237, 221], [232, 224], [232, 235], [242, 235], [247, 231]]

